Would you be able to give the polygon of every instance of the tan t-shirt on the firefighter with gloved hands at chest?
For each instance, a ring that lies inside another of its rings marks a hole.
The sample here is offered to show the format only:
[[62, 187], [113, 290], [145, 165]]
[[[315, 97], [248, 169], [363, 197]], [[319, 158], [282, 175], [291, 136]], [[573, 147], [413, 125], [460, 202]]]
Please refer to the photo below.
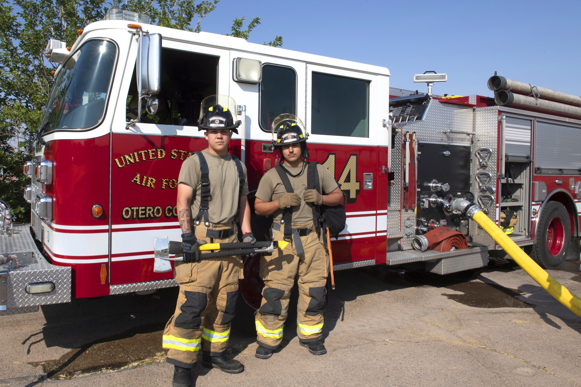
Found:
[[[288, 175], [290, 185], [292, 185], [293, 191], [300, 198], [300, 207], [292, 207], [292, 223], [294, 224], [305, 224], [309, 221], [313, 220], [313, 203], [305, 203], [304, 202], [304, 191], [307, 189], [307, 165], [303, 163], [303, 166], [300, 167], [290, 167], [287, 164], [283, 164], [283, 166], [293, 175], [300, 173], [301, 170], [304, 170], [300, 176], [292, 177]], [[317, 164], [317, 171], [319, 173], [319, 182], [321, 184], [321, 190], [326, 193], [331, 193], [335, 191], [335, 188], [339, 187], [337, 182], [333, 178], [333, 175], [327, 168], [322, 166], [321, 164]], [[256, 191], [256, 197], [262, 200], [263, 202], [274, 202], [274, 200], [278, 200], [281, 198], [282, 195], [286, 193], [285, 185], [282, 184], [281, 177], [278, 175], [278, 172], [272, 168], [264, 176], [260, 179], [260, 183], [258, 185], [258, 189]], [[282, 212], [283, 210], [276, 210], [272, 217], [274, 220], [280, 221], [282, 219]]]

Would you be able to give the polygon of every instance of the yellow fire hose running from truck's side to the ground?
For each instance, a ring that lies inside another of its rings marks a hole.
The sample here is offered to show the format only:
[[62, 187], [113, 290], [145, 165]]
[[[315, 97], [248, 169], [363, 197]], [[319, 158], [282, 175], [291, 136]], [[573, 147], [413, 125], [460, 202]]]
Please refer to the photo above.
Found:
[[[471, 214], [468, 214], [468, 216], [470, 215]], [[522, 267], [522, 269], [537, 282], [537, 284], [541, 285], [543, 289], [557, 299], [558, 302], [565, 305], [567, 309], [581, 317], [581, 299], [569, 292], [565, 286], [557, 281], [557, 279], [548, 275], [548, 273], [535, 261], [530, 259], [530, 257], [518, 247], [517, 243], [512, 242], [512, 240], [481, 210], [476, 211], [474, 215], [470, 217], [490, 236], [492, 236], [492, 239], [494, 239], [494, 241], [496, 241], [496, 243], [498, 243], [498, 245], [500, 245], [500, 247], [503, 248], [512, 259], [514, 259], [518, 266]]]

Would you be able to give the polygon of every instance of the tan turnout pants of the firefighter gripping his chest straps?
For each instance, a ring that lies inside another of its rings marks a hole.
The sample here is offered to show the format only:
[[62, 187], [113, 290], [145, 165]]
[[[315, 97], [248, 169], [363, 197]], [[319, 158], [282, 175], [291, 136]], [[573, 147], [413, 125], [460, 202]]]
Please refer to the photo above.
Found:
[[[293, 224], [293, 228], [313, 228], [309, 224]], [[284, 233], [274, 231], [274, 240], [282, 241]], [[327, 306], [327, 275], [329, 256], [321, 236], [316, 231], [301, 236], [304, 256], [297, 256], [293, 242], [284, 250], [277, 249], [271, 256], [260, 259], [260, 276], [264, 280], [263, 299], [256, 311], [256, 333], [259, 345], [277, 349], [282, 341], [282, 328], [288, 315], [290, 291], [299, 286], [297, 304], [297, 335], [300, 341], [317, 341], [321, 338], [323, 313]]]

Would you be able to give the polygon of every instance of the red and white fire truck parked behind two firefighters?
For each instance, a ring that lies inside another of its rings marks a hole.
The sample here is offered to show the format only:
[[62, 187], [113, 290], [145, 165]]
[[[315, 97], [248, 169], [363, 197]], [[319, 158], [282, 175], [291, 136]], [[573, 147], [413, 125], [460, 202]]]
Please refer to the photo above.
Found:
[[[250, 202], [277, 163], [271, 121], [281, 113], [303, 119], [311, 159], [346, 194], [334, 270], [486, 266], [502, 252], [450, 209], [453, 198], [474, 200], [497, 223], [509, 210], [518, 219], [510, 237], [545, 267], [559, 266], [578, 236], [579, 97], [546, 98], [528, 84], [518, 91], [503, 77], [490, 80], [497, 101], [390, 93], [385, 67], [153, 26], [129, 12], [106, 19], [79, 30], [72, 47], [47, 46], [59, 67], [24, 166], [30, 231], [0, 235], [1, 314], [176, 285], [171, 271], [153, 271], [153, 238], [180, 240], [178, 173], [207, 145], [197, 121], [200, 102], [213, 94], [239, 104], [230, 151], [248, 168]], [[255, 216], [253, 229], [268, 222]], [[430, 249], [422, 236], [438, 227], [467, 236], [468, 248]], [[257, 273], [257, 259], [246, 260], [241, 292], [250, 306], [260, 303]]]

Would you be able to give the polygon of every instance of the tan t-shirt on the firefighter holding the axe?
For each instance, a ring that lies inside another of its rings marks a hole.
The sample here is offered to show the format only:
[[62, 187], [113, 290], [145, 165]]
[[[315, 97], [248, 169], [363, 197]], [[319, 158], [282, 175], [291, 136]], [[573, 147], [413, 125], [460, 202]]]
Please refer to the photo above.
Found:
[[[212, 199], [208, 202], [208, 217], [210, 223], [228, 224], [234, 221], [236, 210], [238, 209], [238, 190], [240, 181], [238, 179], [238, 169], [232, 160], [232, 156], [227, 153], [224, 156], [212, 155], [207, 149], [202, 150], [206, 159], [210, 178], [210, 195]], [[246, 166], [242, 163], [244, 171], [244, 187], [242, 196], [248, 195], [248, 178], [246, 177]], [[198, 216], [200, 209], [200, 163], [198, 155], [195, 153], [185, 159], [180, 169], [178, 183], [185, 183], [193, 189], [192, 197], [192, 221]]]

